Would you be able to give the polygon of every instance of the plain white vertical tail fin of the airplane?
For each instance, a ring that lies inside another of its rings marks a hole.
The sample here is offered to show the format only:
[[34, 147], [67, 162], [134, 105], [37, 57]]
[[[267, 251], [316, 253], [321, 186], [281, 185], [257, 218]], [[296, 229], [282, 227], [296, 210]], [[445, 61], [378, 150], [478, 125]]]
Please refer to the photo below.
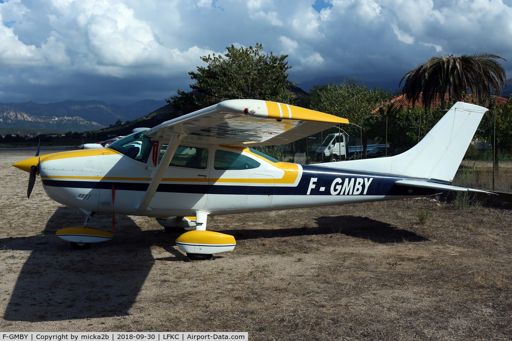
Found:
[[452, 181], [487, 110], [457, 102], [416, 146], [404, 153], [321, 166]]

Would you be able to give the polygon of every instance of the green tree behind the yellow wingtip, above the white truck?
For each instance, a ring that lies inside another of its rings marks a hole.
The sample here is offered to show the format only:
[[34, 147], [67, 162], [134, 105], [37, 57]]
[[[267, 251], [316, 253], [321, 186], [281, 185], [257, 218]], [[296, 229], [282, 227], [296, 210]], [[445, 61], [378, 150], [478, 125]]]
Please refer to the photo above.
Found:
[[[381, 88], [369, 89], [364, 83], [355, 79], [344, 80], [336, 84], [313, 86], [308, 106], [317, 111], [330, 113], [349, 120], [350, 125], [342, 129], [352, 137], [361, 138], [363, 154], [366, 155], [367, 140], [376, 137], [374, 123], [376, 114], [372, 111], [391, 98], [391, 92]], [[329, 132], [338, 132], [333, 129]]]

